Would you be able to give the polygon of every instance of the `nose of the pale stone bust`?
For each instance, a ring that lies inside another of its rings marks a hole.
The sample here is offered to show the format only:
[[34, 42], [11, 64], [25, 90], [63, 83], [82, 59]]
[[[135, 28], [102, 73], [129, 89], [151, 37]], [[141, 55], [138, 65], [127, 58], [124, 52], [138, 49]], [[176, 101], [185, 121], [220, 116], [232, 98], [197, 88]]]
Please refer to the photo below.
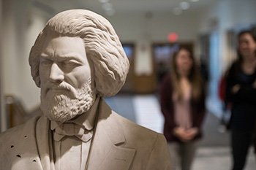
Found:
[[53, 65], [50, 68], [50, 81], [51, 82], [57, 82], [60, 83], [64, 80], [64, 73], [59, 68], [57, 63], [53, 63]]

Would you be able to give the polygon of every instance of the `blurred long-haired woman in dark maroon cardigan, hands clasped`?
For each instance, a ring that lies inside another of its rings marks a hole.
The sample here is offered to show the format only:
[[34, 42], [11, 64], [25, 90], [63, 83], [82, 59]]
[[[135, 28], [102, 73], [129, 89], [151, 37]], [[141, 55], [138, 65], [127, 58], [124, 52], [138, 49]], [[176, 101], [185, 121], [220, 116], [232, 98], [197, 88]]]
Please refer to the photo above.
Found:
[[192, 53], [184, 47], [173, 55], [170, 74], [162, 82], [160, 103], [172, 170], [189, 170], [201, 137], [205, 93]]

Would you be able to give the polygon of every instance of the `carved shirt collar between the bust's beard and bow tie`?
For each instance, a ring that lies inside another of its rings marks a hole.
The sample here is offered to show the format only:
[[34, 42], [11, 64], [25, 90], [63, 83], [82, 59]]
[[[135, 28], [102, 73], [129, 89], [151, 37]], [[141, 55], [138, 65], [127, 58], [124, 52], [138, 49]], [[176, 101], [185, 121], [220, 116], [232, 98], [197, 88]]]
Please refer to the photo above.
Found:
[[[94, 128], [94, 124], [95, 124], [95, 118], [97, 115], [97, 111], [98, 111], [98, 106], [99, 106], [99, 96], [97, 96], [96, 100], [94, 101], [94, 104], [91, 106], [91, 108], [87, 111], [84, 112], [81, 115], [78, 115], [78, 117], [75, 117], [72, 120], [67, 120], [64, 123], [75, 123], [77, 125], [81, 125], [84, 128], [86, 128], [87, 131], [91, 131], [91, 129]], [[61, 122], [59, 121], [50, 121], [50, 129], [53, 131], [55, 128], [57, 128], [58, 126], [60, 126]]]

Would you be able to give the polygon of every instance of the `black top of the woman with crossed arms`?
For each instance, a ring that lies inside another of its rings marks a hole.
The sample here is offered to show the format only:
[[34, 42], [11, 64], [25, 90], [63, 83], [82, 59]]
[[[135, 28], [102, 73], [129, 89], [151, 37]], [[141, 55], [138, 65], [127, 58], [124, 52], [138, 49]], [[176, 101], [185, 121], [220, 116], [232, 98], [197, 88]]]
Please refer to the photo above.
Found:
[[[236, 66], [231, 66], [227, 75], [225, 102], [231, 104], [231, 117], [228, 128], [239, 131], [253, 131], [256, 118], [256, 70], [253, 74], [245, 74]], [[240, 85], [237, 93], [232, 93], [234, 85]]]

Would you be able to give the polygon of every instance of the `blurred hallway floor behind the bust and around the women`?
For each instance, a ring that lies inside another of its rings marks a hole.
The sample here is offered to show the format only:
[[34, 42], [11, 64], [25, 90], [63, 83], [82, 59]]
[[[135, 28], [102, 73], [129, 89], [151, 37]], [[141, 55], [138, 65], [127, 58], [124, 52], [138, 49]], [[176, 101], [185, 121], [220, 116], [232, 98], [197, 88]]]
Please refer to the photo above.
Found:
[[[105, 98], [118, 114], [139, 125], [162, 133], [163, 117], [155, 95], [117, 95]], [[229, 133], [221, 132], [217, 116], [207, 113], [203, 124], [204, 138], [197, 150], [192, 170], [228, 170], [231, 166]], [[255, 154], [250, 148], [244, 170], [255, 170]]]

